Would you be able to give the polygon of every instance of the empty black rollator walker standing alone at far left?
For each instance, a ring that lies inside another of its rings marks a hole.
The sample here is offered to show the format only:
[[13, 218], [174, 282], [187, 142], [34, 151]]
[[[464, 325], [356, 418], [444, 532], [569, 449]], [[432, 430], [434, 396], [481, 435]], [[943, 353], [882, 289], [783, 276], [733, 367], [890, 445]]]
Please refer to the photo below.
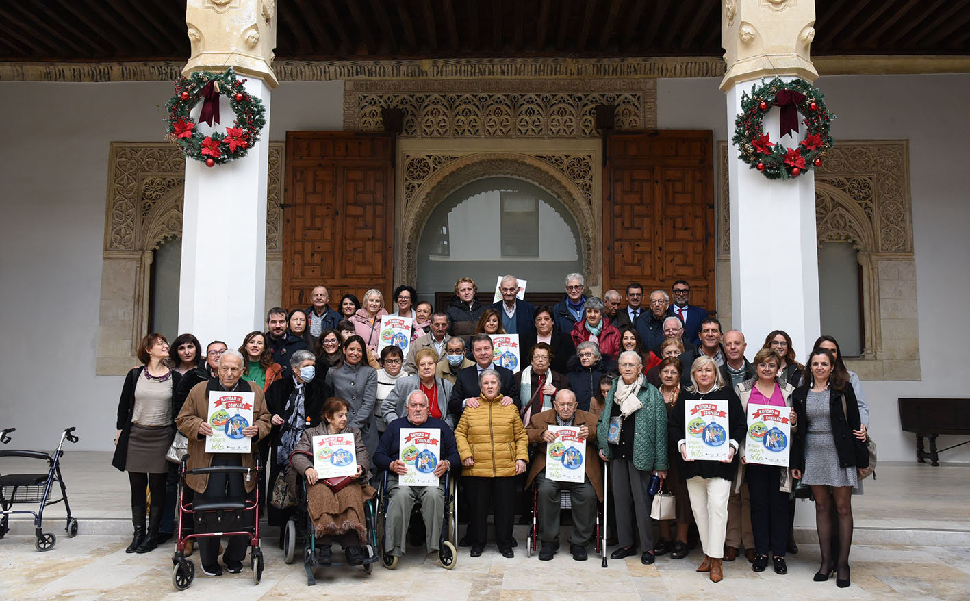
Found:
[[[0, 538], [3, 538], [10, 530], [10, 516], [14, 514], [30, 514], [34, 517], [34, 531], [37, 541], [34, 547], [37, 551], [50, 551], [57, 542], [57, 537], [53, 532], [44, 531], [44, 508], [64, 501], [64, 509], [67, 511], [67, 525], [64, 530], [68, 538], [74, 538], [78, 534], [78, 521], [71, 517], [71, 506], [67, 502], [67, 489], [64, 486], [64, 478], [60, 473], [60, 459], [64, 456], [61, 447], [64, 440], [78, 442], [78, 437], [74, 432], [76, 428], [68, 427], [61, 433], [60, 442], [57, 448], [51, 453], [45, 451], [25, 451], [22, 449], [11, 449], [0, 451], [0, 458], [24, 458], [24, 459], [44, 459], [48, 462], [48, 471], [35, 474], [7, 474], [0, 476]], [[16, 430], [15, 427], [8, 427], [0, 432], [0, 442], [10, 442], [10, 432]], [[54, 483], [60, 486], [61, 497], [50, 500], [50, 492]], [[15, 504], [37, 503], [37, 511], [13, 510]]]

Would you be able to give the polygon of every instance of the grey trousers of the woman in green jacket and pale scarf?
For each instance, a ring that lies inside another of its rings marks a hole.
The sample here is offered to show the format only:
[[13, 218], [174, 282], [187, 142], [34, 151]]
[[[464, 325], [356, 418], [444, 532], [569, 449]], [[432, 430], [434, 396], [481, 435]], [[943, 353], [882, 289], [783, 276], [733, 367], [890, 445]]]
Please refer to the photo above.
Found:
[[621, 547], [633, 544], [633, 527], [639, 533], [641, 551], [653, 551], [654, 532], [650, 523], [650, 508], [654, 497], [650, 495], [651, 472], [642, 472], [627, 459], [609, 462], [610, 483], [616, 504], [616, 537]]

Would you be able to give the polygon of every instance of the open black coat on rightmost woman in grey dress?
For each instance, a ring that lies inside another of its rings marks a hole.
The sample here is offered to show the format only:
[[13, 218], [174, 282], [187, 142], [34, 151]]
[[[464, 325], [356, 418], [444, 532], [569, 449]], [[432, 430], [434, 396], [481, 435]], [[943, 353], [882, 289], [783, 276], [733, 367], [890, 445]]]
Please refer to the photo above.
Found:
[[[792, 469], [805, 469], [805, 432], [808, 431], [808, 417], [806, 414], [806, 401], [808, 398], [809, 385], [805, 383], [799, 386], [792, 393], [792, 407], [798, 414], [798, 428], [793, 432], [794, 444], [792, 445], [792, 455], [789, 465]], [[848, 420], [842, 412], [842, 397], [845, 396], [846, 409], [849, 413]], [[844, 390], [833, 390], [828, 398], [828, 411], [832, 421], [832, 438], [835, 440], [835, 452], [839, 456], [839, 467], [868, 467], [869, 450], [865, 446], [865, 441], [856, 438], [854, 429], [861, 427], [861, 420], [858, 416], [858, 403], [856, 393], [852, 390], [852, 385], [846, 383]]]

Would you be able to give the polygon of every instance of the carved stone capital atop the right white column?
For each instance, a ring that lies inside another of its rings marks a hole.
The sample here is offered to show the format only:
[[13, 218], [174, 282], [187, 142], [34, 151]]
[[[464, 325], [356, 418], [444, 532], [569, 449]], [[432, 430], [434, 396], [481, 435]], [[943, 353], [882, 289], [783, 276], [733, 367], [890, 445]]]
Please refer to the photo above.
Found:
[[814, 81], [814, 0], [724, 0], [721, 45], [727, 72], [721, 89], [740, 81], [793, 76]]

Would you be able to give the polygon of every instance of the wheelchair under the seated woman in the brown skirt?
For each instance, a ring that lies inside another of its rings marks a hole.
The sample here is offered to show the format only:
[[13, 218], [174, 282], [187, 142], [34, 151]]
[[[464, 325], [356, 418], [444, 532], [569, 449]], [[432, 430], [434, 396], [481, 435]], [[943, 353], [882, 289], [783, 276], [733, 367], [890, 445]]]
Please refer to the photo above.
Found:
[[[311, 457], [309, 453], [303, 451], [294, 451], [290, 457], [292, 458], [297, 453], [303, 453], [307, 457]], [[292, 469], [292, 467], [289, 469]], [[343, 563], [334, 561], [333, 559], [329, 563], [323, 563], [321, 561], [321, 548], [316, 544], [316, 529], [313, 527], [313, 520], [310, 518], [309, 510], [307, 509], [307, 479], [302, 475], [297, 475], [297, 480], [300, 482], [300, 485], [295, 491], [297, 499], [296, 512], [286, 521], [286, 525], [283, 526], [283, 561], [293, 563], [293, 560], [296, 558], [297, 541], [303, 540], [304, 569], [307, 570], [307, 586], [312, 586], [316, 585], [316, 577], [313, 575], [313, 570], [317, 567], [324, 565], [339, 567]], [[376, 511], [374, 506], [374, 499], [364, 500], [364, 525], [367, 529], [367, 538], [366, 544], [361, 545], [361, 549], [364, 554], [362, 567], [364, 568], [365, 574], [372, 573], [373, 564], [379, 558], [376, 551], [377, 530], [375, 527]]]

